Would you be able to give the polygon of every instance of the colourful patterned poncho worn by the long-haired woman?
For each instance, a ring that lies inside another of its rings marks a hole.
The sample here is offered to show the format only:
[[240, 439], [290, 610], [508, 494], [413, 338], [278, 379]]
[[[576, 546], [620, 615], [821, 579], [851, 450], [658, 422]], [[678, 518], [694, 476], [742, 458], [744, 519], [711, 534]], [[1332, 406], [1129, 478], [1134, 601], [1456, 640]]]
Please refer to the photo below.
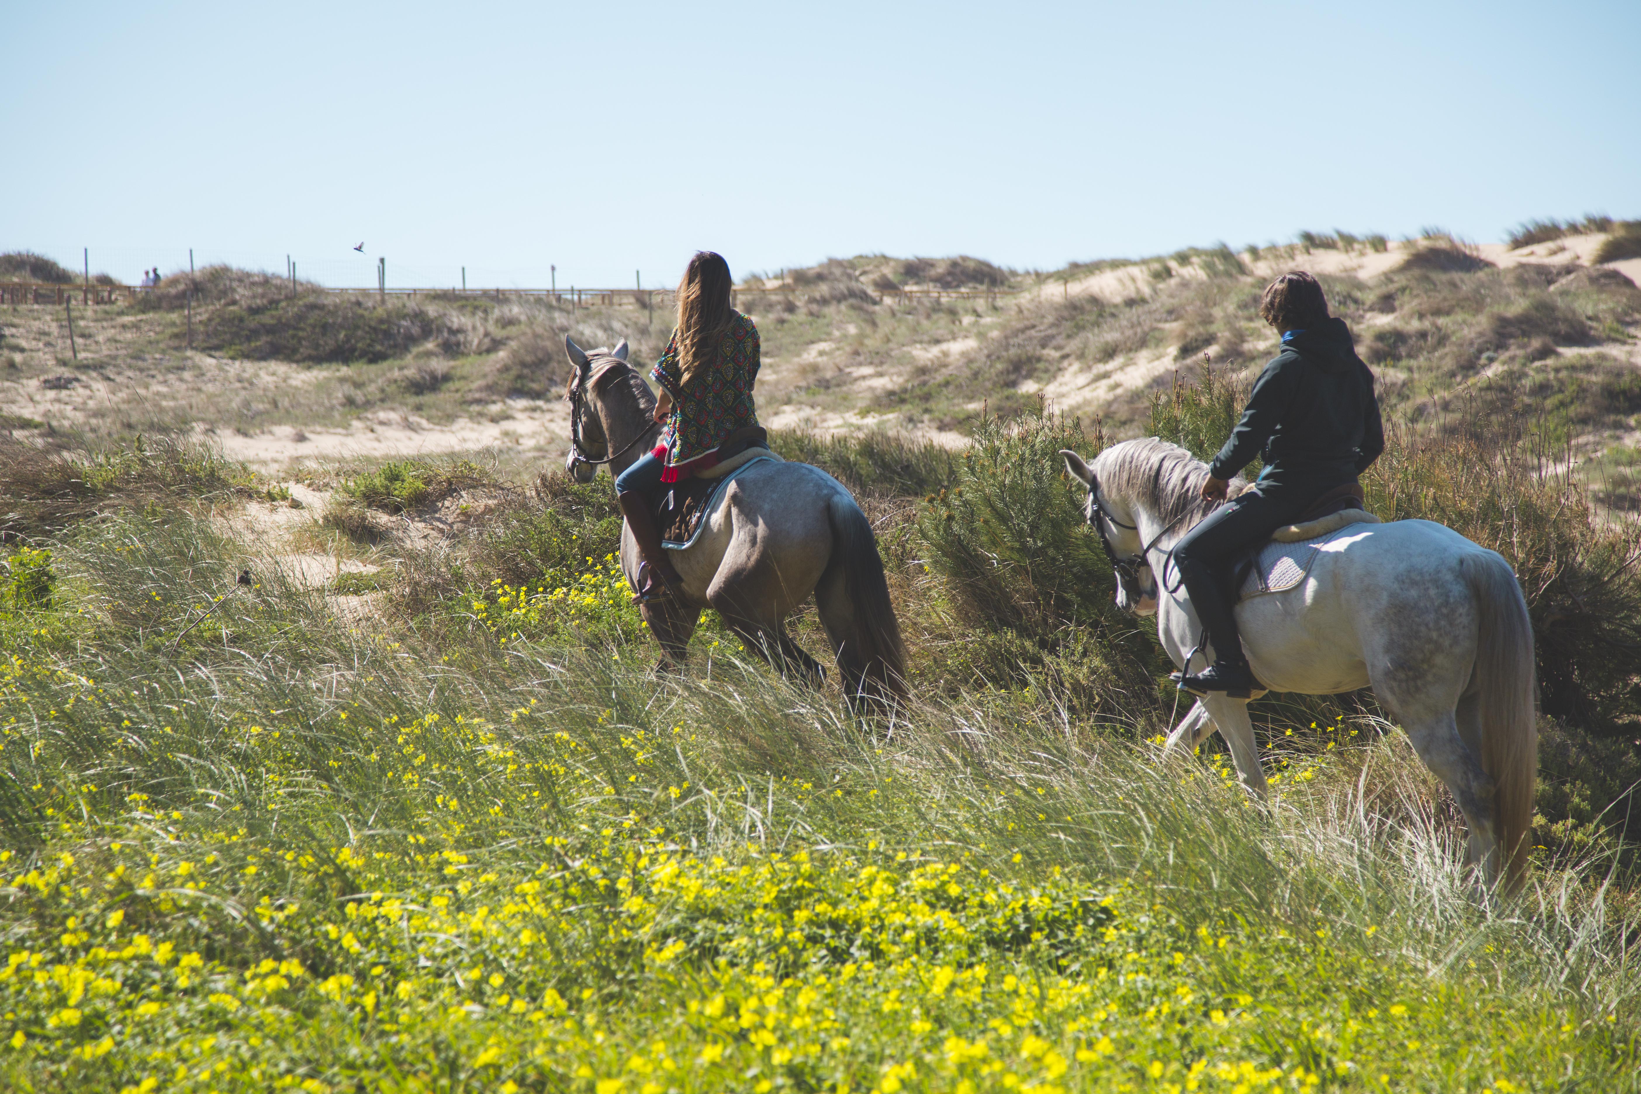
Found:
[[678, 331], [650, 377], [673, 397], [673, 413], [661, 430], [655, 456], [666, 463], [661, 482], [688, 479], [717, 463], [724, 441], [747, 426], [758, 425], [752, 385], [758, 379], [758, 328], [740, 312], [734, 313], [717, 359], [702, 366], [686, 387], [678, 359]]

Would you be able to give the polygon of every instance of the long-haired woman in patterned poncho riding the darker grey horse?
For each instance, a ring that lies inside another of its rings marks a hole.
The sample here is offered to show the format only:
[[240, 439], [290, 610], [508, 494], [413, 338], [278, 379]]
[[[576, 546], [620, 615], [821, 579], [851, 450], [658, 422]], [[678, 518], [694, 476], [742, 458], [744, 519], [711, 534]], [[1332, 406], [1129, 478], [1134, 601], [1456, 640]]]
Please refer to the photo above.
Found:
[[661, 387], [655, 420], [660, 443], [615, 479], [615, 499], [627, 517], [643, 563], [638, 600], [655, 600], [679, 587], [655, 508], [663, 484], [689, 479], [720, 459], [763, 444], [752, 385], [758, 379], [758, 328], [729, 305], [729, 262], [697, 251], [678, 282], [678, 326], [666, 353], [650, 371]]

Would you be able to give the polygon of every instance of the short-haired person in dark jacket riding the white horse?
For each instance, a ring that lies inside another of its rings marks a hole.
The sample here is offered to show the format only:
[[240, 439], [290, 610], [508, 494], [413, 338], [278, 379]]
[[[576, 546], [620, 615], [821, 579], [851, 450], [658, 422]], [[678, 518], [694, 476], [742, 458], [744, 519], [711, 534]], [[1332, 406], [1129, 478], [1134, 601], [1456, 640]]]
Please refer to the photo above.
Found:
[[1316, 279], [1298, 272], [1270, 282], [1259, 315], [1282, 333], [1282, 353], [1259, 374], [1242, 420], [1209, 464], [1203, 499], [1223, 500], [1229, 479], [1262, 449], [1265, 469], [1173, 548], [1173, 563], [1216, 658], [1206, 671], [1186, 672], [1180, 684], [1237, 699], [1259, 684], [1232, 613], [1232, 561], [1296, 522], [1324, 494], [1354, 487], [1360, 497], [1355, 477], [1385, 451], [1374, 374], [1355, 356], [1344, 320], [1328, 315]]

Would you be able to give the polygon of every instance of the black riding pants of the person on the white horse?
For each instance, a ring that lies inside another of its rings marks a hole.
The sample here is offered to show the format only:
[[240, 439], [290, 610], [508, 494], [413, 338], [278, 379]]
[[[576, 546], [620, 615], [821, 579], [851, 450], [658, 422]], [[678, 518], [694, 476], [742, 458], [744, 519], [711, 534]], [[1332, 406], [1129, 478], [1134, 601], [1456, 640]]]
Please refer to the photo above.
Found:
[[[1334, 485], [1337, 482], [1260, 484], [1216, 508], [1175, 545], [1173, 566], [1191, 597], [1196, 618], [1208, 630], [1208, 641], [1218, 659], [1242, 659], [1242, 640], [1231, 612], [1237, 592], [1231, 587], [1231, 564], [1249, 548], [1268, 540], [1277, 528], [1298, 520]], [[1190, 666], [1186, 671], [1191, 671]]]

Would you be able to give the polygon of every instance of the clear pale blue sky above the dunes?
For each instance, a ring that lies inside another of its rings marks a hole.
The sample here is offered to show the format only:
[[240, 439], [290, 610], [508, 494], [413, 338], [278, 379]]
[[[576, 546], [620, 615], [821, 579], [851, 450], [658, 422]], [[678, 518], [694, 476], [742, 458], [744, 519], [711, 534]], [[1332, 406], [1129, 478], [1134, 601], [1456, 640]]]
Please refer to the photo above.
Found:
[[[1641, 3], [21, 3], [0, 249], [671, 284], [1641, 217]], [[364, 241], [366, 254], [351, 251]]]

